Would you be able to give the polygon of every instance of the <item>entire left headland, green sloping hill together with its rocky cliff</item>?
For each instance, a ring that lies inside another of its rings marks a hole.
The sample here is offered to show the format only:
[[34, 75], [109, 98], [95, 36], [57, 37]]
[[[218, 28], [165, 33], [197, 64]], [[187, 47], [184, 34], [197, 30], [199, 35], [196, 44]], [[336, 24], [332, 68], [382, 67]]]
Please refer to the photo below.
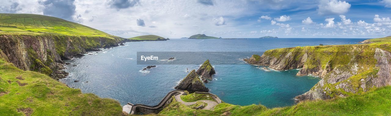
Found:
[[0, 14], [0, 49], [9, 62], [59, 79], [62, 60], [118, 46], [126, 40], [64, 19], [37, 14]]

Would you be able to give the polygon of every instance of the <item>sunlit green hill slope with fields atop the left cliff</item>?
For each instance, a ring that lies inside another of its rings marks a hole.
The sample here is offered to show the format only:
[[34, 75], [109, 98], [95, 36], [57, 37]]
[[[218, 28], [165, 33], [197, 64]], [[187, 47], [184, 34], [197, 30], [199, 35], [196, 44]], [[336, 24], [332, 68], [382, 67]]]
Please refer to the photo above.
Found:
[[0, 14], [0, 34], [2, 33], [25, 35], [49, 33], [97, 37], [113, 36], [79, 23], [38, 14]]

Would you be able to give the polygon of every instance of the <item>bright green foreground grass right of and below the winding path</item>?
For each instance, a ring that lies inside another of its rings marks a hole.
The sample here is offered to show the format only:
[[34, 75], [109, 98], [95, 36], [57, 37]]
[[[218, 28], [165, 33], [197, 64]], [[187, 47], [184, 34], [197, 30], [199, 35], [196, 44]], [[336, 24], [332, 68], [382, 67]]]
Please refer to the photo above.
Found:
[[264, 105], [218, 104], [213, 111], [195, 110], [173, 100], [159, 114], [167, 116], [389, 116], [391, 86], [378, 88], [362, 95], [331, 100], [305, 101], [289, 107], [268, 109]]

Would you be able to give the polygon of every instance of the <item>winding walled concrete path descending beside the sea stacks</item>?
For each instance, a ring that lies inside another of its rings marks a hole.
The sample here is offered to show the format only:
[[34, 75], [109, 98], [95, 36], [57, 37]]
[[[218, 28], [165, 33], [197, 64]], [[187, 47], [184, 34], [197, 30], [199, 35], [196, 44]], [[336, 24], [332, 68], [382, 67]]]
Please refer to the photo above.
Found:
[[167, 93], [167, 95], [163, 98], [163, 100], [160, 101], [160, 103], [158, 105], [155, 105], [155, 106], [149, 106], [149, 105], [144, 105], [144, 104], [135, 104], [135, 105], [133, 105], [131, 103], [127, 103], [126, 105], [124, 105], [124, 107], [122, 107], [122, 111], [123, 112], [127, 112], [128, 114], [135, 114], [137, 112], [142, 112], [144, 114], [149, 114], [149, 113], [156, 113], [157, 114], [161, 110], [163, 110], [164, 105], [167, 103], [167, 101], [172, 96], [175, 96], [175, 100], [177, 100], [178, 102], [181, 102], [184, 105], [193, 105], [193, 104], [196, 104], [197, 102], [205, 102], [206, 104], [208, 104], [206, 107], [202, 108], [202, 109], [205, 109], [205, 110], [212, 110], [213, 107], [215, 107], [217, 104], [221, 103], [220, 98], [217, 97], [216, 95], [212, 94], [212, 93], [208, 93], [208, 92], [195, 92], [195, 93], [197, 93], [197, 94], [208, 94], [211, 97], [213, 97], [217, 102], [216, 101], [212, 101], [212, 100], [198, 100], [198, 101], [195, 101], [195, 102], [184, 102], [181, 99], [181, 95], [186, 95], [185, 91], [174, 90], [174, 91], [170, 91], [169, 93]]

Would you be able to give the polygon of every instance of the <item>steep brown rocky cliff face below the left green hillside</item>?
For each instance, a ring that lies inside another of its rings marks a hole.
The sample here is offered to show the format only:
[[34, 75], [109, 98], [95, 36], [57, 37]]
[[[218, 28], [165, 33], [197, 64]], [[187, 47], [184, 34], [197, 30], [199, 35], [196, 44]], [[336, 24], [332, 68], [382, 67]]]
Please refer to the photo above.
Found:
[[118, 46], [123, 40], [120, 37], [0, 34], [0, 49], [16, 67], [59, 79], [66, 76], [66, 72], [59, 71], [63, 69], [63, 60], [78, 53]]

